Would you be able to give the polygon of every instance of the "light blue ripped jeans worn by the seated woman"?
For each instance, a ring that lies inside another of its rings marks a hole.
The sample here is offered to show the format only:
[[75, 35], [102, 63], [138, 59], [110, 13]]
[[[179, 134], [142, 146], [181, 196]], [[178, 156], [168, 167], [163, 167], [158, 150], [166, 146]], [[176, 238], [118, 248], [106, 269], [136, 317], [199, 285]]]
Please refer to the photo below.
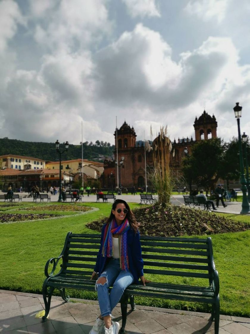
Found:
[[[133, 283], [134, 278], [130, 272], [120, 268], [119, 259], [113, 258], [110, 259], [100, 277], [105, 277], [107, 280], [103, 285], [100, 283], [95, 285], [101, 316], [111, 316], [113, 308], [119, 302], [124, 290]], [[109, 289], [110, 286], [113, 288]]]

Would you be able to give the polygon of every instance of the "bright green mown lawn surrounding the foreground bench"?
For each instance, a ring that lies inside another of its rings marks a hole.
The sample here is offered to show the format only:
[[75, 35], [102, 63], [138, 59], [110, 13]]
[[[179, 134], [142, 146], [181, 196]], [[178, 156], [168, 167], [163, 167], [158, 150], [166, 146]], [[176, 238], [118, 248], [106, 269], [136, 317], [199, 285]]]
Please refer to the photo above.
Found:
[[[130, 204], [132, 208], [140, 206], [136, 203]], [[29, 203], [23, 203], [19, 210], [28, 205]], [[96, 207], [99, 210], [75, 216], [73, 213], [77, 212], [73, 212], [70, 216], [60, 219], [0, 224], [0, 254], [3, 259], [0, 267], [0, 288], [41, 293], [45, 279], [45, 263], [49, 258], [60, 254], [67, 232], [97, 233], [87, 228], [86, 223], [102, 215], [109, 215], [111, 210], [111, 203], [84, 203], [84, 205]], [[8, 212], [14, 213], [14, 211]], [[6, 213], [6, 210], [4, 212]], [[28, 211], [19, 212], [27, 213]], [[60, 211], [57, 213], [66, 214]], [[250, 222], [249, 216], [232, 214], [227, 216], [231, 219]], [[249, 236], [249, 230], [212, 235], [215, 265], [220, 277], [222, 314], [250, 316]], [[72, 291], [71, 297], [96, 298], [96, 295]], [[136, 302], [143, 305], [208, 311], [203, 304], [142, 298], [136, 299]]]

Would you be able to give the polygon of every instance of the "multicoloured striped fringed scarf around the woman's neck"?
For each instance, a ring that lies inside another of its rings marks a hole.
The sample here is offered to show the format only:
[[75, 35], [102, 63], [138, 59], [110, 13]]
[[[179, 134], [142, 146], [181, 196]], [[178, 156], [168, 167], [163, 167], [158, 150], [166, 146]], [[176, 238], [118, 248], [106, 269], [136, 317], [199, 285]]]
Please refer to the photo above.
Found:
[[102, 256], [111, 258], [113, 256], [112, 234], [119, 234], [119, 253], [120, 253], [120, 268], [128, 271], [128, 246], [127, 232], [129, 229], [128, 219], [125, 219], [121, 225], [117, 225], [115, 219], [105, 226], [102, 244]]

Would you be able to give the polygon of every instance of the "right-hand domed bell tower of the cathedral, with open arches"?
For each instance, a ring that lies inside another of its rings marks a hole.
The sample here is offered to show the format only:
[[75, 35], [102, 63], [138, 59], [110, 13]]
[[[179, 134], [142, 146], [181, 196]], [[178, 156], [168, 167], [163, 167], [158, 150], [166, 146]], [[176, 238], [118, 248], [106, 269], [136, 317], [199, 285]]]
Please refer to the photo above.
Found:
[[[204, 110], [203, 114], [197, 119], [195, 117], [194, 130], [195, 130], [195, 140], [217, 138], [217, 122], [214, 115], [211, 117]], [[211, 135], [209, 137], [209, 135]]]

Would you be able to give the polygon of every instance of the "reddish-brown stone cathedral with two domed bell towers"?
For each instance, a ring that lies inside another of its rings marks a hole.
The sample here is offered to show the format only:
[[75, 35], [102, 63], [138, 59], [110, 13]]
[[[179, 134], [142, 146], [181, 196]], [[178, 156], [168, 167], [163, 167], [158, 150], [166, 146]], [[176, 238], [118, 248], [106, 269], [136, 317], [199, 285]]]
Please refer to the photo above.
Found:
[[[202, 115], [194, 121], [195, 139], [192, 137], [178, 138], [172, 142], [172, 154], [170, 159], [170, 168], [174, 175], [180, 176], [181, 162], [186, 154], [191, 152], [191, 146], [195, 142], [203, 139], [217, 137], [217, 122], [213, 116], [208, 115], [204, 110]], [[126, 122], [117, 129], [115, 137], [115, 160], [104, 161], [103, 186], [113, 188], [119, 183], [123, 187], [145, 187], [145, 158], [147, 168], [153, 165], [152, 153], [146, 152], [144, 142], [136, 142], [136, 133], [134, 128], [130, 127]], [[116, 143], [118, 143], [118, 157], [116, 150]], [[118, 165], [118, 168], [117, 168]], [[118, 170], [118, 172], [117, 172]], [[147, 177], [147, 185], [150, 186], [150, 180]]]

